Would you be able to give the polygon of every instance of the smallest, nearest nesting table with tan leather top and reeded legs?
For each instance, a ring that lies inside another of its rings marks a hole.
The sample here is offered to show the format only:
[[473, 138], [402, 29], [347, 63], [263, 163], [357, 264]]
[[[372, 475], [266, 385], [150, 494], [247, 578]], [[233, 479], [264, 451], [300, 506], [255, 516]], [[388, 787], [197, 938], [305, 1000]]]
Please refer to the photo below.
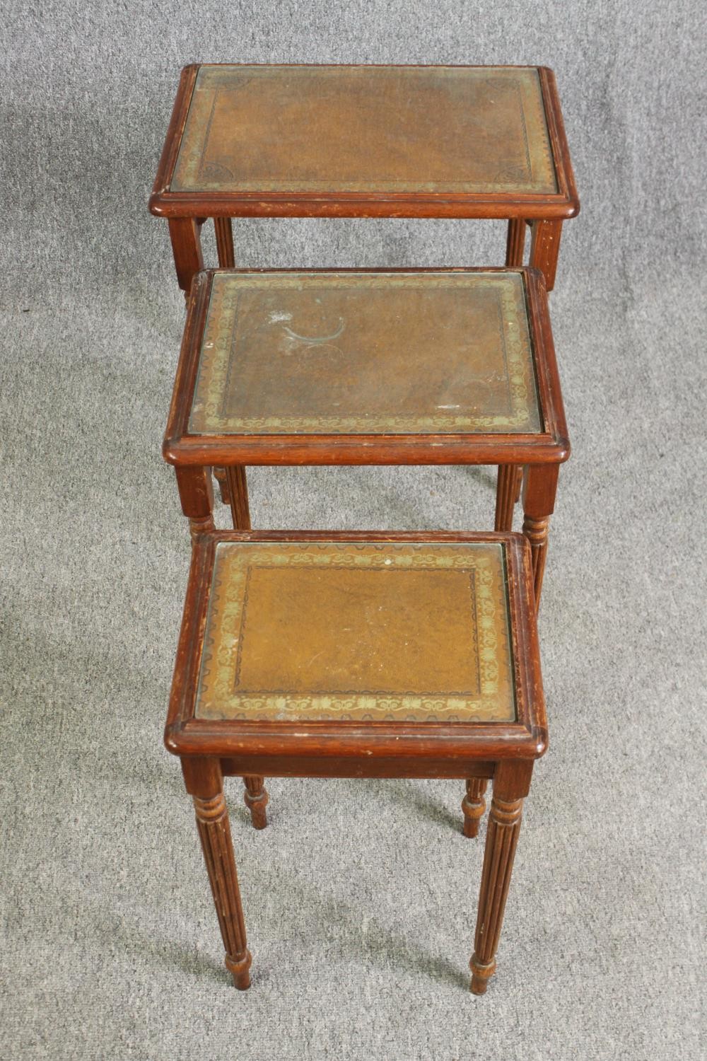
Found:
[[513, 534], [195, 533], [165, 744], [237, 988], [251, 956], [225, 775], [465, 779], [469, 836], [493, 779], [471, 960], [487, 990], [547, 746], [532, 580]]

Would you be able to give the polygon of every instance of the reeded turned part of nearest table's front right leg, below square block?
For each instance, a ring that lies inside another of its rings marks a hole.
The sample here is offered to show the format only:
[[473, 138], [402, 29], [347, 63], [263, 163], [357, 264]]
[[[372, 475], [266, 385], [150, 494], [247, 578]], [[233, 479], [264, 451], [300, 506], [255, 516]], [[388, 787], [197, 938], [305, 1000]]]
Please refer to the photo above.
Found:
[[522, 812], [522, 799], [509, 802], [494, 796], [491, 801], [474, 954], [470, 962], [473, 994], [483, 994], [489, 979], [496, 971], [496, 950], [511, 883]]

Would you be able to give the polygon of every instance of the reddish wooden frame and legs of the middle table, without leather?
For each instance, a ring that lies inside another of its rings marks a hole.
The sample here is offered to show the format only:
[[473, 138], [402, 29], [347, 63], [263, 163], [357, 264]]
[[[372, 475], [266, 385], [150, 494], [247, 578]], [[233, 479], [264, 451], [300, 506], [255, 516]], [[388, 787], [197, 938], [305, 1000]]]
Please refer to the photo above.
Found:
[[[495, 529], [510, 530], [516, 493], [516, 473], [525, 468], [524, 534], [532, 549], [535, 598], [540, 604], [554, 509], [560, 465], [569, 456], [569, 438], [554, 355], [547, 295], [542, 274], [522, 269], [541, 410], [542, 434], [448, 435], [191, 435], [189, 416], [198, 369], [200, 342], [209, 306], [210, 269], [194, 278], [187, 327], [164, 436], [163, 455], [175, 466], [184, 515], [201, 529], [212, 520], [210, 468], [226, 468], [233, 525], [250, 529], [247, 465], [497, 465]], [[244, 269], [244, 273], [331, 272], [324, 269]], [[337, 273], [474, 273], [497, 269], [337, 269]], [[205, 523], [206, 521], [206, 523]]]

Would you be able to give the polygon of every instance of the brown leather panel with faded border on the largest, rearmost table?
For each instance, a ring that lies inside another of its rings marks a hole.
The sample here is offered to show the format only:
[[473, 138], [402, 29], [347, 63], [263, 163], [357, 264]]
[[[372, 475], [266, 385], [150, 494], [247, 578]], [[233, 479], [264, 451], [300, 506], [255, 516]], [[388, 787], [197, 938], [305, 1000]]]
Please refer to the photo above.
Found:
[[173, 191], [556, 191], [532, 67], [204, 66]]

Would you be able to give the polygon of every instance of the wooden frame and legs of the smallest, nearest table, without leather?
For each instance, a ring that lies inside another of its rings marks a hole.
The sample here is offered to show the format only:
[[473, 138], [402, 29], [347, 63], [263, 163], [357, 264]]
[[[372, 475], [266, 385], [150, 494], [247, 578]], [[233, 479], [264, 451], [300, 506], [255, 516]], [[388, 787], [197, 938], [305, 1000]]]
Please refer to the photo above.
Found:
[[[204, 479], [204, 477], [202, 477]], [[206, 479], [204, 479], [206, 482]], [[209, 481], [210, 482], [210, 481]], [[534, 622], [530, 550], [517, 534], [374, 532], [218, 532], [193, 525], [192, 567], [165, 729], [181, 760], [218, 914], [226, 966], [249, 987], [251, 956], [238, 890], [225, 776], [317, 778], [459, 778], [466, 781], [464, 833], [475, 836], [493, 781], [479, 893], [471, 990], [482, 994], [496, 963], [523, 800], [534, 761], [547, 747], [547, 723]], [[516, 720], [509, 723], [219, 721], [195, 717], [215, 547], [237, 541], [500, 542], [508, 571]]]

